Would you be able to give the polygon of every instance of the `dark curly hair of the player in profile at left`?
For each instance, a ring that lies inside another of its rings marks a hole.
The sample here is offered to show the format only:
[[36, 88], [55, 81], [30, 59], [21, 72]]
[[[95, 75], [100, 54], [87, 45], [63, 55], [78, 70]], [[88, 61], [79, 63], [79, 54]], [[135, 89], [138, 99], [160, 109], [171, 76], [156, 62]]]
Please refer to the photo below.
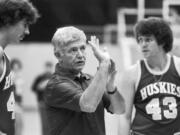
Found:
[[33, 24], [40, 15], [37, 9], [28, 0], [1, 0], [0, 1], [0, 28], [11, 26], [21, 20]]

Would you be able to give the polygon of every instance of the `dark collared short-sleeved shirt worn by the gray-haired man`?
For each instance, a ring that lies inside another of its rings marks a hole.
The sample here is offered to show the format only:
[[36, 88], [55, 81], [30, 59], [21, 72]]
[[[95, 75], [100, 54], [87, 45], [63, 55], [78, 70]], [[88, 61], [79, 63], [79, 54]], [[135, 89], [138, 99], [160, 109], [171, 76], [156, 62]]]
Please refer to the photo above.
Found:
[[56, 65], [44, 95], [50, 135], [105, 135], [104, 108], [110, 105], [107, 96], [93, 113], [80, 109], [80, 97], [91, 80], [90, 75], [81, 73], [79, 81], [75, 73]]

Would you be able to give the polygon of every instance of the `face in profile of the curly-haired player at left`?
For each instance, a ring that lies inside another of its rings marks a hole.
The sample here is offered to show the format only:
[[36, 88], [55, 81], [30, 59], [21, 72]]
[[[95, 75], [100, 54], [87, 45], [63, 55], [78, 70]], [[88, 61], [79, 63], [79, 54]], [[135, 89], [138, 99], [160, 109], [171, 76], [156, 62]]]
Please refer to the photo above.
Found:
[[22, 20], [10, 27], [8, 40], [11, 43], [19, 43], [19, 41], [23, 40], [25, 35], [28, 35], [29, 33], [28, 24], [25, 20]]

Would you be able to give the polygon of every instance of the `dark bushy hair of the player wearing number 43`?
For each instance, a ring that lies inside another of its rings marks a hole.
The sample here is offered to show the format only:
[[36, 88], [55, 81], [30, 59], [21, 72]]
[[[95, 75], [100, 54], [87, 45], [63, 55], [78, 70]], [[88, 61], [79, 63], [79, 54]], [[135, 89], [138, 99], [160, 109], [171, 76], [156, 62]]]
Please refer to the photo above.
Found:
[[138, 42], [139, 36], [153, 35], [159, 45], [163, 45], [164, 51], [169, 52], [173, 46], [173, 33], [167, 21], [158, 17], [149, 17], [139, 21], [135, 25], [134, 34]]

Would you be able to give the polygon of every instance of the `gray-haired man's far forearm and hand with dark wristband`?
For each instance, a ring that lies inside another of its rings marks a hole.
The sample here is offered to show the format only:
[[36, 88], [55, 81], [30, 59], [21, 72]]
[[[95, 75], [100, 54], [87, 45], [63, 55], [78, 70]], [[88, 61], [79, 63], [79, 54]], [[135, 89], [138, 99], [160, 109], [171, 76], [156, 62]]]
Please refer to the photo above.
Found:
[[110, 100], [108, 111], [116, 114], [122, 114], [125, 112], [125, 103], [124, 98], [120, 94], [117, 86], [115, 86], [116, 74], [117, 71], [115, 63], [111, 60], [111, 72], [109, 74], [108, 82], [106, 85], [106, 95]]

